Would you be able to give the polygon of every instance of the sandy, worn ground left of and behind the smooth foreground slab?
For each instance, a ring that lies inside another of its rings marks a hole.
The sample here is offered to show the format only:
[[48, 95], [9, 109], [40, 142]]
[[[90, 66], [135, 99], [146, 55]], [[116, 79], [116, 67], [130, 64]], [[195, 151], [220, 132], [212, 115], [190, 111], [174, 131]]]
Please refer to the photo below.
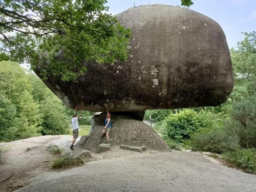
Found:
[[[60, 147], [62, 153], [72, 153], [77, 155], [81, 150], [69, 149], [72, 136], [39, 136], [23, 140], [0, 143], [2, 150], [3, 164], [0, 164], [0, 191], [13, 191], [26, 186], [30, 179], [47, 172], [56, 172], [50, 165], [57, 158], [57, 155], [51, 154], [47, 148], [52, 145]], [[79, 138], [76, 142], [79, 141]], [[29, 151], [27, 149], [30, 148]], [[156, 153], [148, 150], [146, 153]], [[119, 157], [142, 155], [138, 152], [120, 150], [119, 146], [111, 146], [111, 151], [104, 153], [91, 152], [93, 159], [97, 161], [102, 159], [115, 159]], [[59, 170], [57, 170], [59, 172]]]

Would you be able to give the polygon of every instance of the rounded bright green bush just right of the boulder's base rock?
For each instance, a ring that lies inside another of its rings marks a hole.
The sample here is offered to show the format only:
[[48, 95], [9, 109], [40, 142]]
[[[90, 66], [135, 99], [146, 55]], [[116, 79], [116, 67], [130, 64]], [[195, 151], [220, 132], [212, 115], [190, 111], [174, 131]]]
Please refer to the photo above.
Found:
[[218, 120], [214, 118], [214, 114], [207, 111], [197, 113], [194, 110], [185, 109], [176, 114], [170, 113], [163, 121], [163, 138], [183, 143], [198, 130], [212, 129], [216, 122]]

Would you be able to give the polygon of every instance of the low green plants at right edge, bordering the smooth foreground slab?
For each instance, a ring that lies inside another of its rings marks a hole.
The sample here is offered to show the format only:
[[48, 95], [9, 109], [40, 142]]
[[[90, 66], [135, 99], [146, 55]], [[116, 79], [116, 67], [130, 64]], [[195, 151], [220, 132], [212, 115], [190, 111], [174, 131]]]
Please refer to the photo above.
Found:
[[223, 154], [225, 160], [244, 169], [247, 173], [256, 174], [256, 153], [252, 149], [240, 148], [237, 151]]

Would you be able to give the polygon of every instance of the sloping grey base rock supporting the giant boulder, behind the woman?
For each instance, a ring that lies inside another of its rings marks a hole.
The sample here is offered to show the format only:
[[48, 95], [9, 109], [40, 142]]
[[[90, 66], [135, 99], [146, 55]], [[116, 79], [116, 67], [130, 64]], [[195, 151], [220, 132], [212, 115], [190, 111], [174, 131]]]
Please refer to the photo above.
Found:
[[[84, 148], [95, 150], [102, 139], [103, 122], [105, 115], [93, 116], [93, 126], [90, 137]], [[153, 130], [150, 125], [129, 116], [112, 115], [113, 127], [110, 131], [110, 143], [112, 145], [147, 146], [157, 151], [169, 151], [165, 141]], [[101, 125], [101, 126], [100, 126]]]

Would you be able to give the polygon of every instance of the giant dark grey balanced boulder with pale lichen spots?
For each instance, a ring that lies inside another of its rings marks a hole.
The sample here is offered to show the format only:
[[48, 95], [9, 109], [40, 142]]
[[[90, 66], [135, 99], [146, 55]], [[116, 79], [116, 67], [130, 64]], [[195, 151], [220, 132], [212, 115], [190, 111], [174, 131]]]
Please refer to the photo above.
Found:
[[232, 66], [218, 23], [166, 5], [134, 7], [116, 17], [132, 31], [131, 56], [114, 65], [84, 62], [88, 72], [77, 82], [49, 76], [45, 83], [67, 106], [143, 113], [226, 101], [233, 87]]

